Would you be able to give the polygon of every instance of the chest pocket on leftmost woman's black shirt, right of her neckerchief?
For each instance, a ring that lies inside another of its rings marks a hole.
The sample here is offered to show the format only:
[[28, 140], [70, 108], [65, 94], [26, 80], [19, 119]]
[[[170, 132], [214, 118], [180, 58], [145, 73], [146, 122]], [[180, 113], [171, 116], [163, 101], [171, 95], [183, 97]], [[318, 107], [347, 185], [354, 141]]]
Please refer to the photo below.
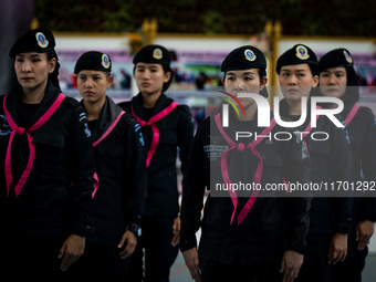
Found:
[[35, 144], [35, 166], [48, 171], [63, 166], [66, 157], [64, 134], [35, 132], [32, 143]]

